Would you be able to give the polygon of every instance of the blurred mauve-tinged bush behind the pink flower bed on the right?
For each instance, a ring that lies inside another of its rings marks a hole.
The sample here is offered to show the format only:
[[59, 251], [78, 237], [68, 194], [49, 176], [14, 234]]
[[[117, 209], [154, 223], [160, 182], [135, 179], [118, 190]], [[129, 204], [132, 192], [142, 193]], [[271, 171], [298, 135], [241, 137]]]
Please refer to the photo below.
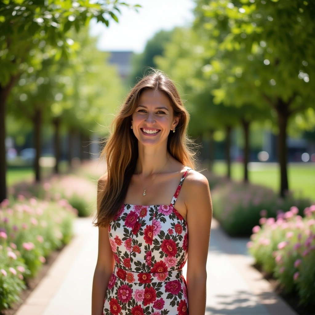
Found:
[[249, 236], [258, 225], [260, 211], [268, 217], [276, 217], [277, 211], [288, 211], [292, 205], [304, 209], [311, 204], [308, 199], [296, 199], [288, 194], [280, 198], [264, 186], [228, 182], [212, 190], [213, 215], [231, 236]]

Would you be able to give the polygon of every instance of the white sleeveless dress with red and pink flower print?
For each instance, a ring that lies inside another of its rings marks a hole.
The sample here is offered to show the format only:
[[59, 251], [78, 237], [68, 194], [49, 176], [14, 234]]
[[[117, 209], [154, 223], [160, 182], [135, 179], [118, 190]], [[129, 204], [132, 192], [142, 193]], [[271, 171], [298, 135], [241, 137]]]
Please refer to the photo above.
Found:
[[108, 227], [115, 258], [103, 315], [186, 315], [187, 223], [170, 205], [124, 204]]

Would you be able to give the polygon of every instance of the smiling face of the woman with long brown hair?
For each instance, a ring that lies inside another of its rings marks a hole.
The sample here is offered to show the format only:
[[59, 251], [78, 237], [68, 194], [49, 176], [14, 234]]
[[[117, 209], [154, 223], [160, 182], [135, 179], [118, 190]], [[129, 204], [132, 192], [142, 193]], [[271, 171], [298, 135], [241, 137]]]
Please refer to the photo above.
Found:
[[132, 130], [139, 144], [166, 145], [169, 132], [176, 127], [178, 120], [178, 117], [174, 117], [169, 98], [163, 92], [145, 90], [132, 114]]

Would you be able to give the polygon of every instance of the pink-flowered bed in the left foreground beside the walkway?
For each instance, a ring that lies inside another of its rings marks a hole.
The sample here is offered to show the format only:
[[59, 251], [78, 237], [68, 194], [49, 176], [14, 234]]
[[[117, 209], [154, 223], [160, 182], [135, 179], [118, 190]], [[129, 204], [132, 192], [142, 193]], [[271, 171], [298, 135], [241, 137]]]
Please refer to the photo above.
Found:
[[53, 250], [70, 242], [77, 215], [65, 199], [25, 199], [0, 204], [0, 311], [19, 299]]

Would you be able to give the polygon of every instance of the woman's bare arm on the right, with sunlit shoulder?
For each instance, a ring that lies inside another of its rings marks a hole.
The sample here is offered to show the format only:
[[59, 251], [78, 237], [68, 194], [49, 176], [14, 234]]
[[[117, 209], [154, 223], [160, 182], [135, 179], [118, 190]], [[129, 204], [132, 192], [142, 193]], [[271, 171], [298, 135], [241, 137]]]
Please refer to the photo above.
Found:
[[204, 315], [212, 203], [208, 180], [202, 174], [192, 171], [187, 179], [188, 308], [189, 314]]

